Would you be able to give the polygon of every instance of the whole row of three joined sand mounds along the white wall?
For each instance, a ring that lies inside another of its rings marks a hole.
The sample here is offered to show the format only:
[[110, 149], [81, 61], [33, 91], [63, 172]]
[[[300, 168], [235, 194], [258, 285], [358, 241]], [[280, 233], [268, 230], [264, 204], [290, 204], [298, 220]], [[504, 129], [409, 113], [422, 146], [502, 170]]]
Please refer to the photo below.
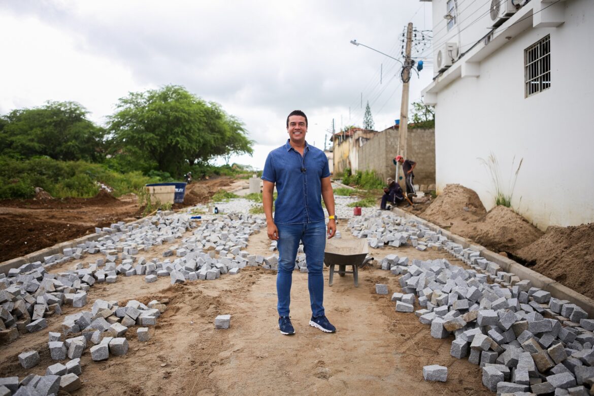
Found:
[[445, 186], [420, 216], [594, 298], [594, 223], [551, 226], [543, 234], [510, 208], [485, 213], [476, 192], [457, 184]]

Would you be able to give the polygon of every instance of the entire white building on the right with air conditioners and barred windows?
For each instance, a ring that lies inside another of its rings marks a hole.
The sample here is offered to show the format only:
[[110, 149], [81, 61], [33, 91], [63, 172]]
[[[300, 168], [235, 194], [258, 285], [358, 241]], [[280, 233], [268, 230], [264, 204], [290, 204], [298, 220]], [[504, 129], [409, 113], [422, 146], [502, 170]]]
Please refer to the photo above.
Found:
[[533, 224], [593, 222], [594, 1], [433, 0], [432, 14], [438, 192], [460, 183], [492, 208], [492, 154], [504, 193], [523, 160], [511, 206]]

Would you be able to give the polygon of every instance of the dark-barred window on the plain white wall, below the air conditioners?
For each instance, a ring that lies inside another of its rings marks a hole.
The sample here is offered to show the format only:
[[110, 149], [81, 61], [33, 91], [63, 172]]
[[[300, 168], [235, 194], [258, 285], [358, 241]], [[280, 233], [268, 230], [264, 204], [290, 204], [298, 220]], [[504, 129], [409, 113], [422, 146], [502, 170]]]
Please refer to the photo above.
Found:
[[551, 36], [524, 50], [525, 97], [551, 88]]

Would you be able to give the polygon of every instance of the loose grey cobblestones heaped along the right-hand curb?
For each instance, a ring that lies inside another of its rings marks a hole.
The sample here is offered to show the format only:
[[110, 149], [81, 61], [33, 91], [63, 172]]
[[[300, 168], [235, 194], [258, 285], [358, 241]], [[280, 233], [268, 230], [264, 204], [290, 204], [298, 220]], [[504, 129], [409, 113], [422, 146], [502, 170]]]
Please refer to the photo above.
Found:
[[[384, 215], [349, 223], [371, 246], [445, 249], [472, 269], [447, 259], [421, 261], [388, 255], [382, 268], [399, 276], [396, 311], [415, 312], [431, 336], [448, 338], [451, 356], [482, 367], [482, 382], [498, 394], [592, 394], [594, 320], [579, 306], [551, 297], [480, 252], [464, 249], [414, 220]], [[387, 286], [376, 285], [387, 294]], [[422, 309], [415, 311], [415, 302]], [[425, 379], [445, 381], [447, 370], [426, 366]]]

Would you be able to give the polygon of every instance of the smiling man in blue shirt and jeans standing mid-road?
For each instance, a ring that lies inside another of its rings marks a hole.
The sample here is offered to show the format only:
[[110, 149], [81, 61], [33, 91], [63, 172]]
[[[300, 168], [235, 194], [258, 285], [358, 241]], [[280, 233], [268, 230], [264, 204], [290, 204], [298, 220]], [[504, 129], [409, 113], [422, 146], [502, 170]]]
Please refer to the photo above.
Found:
[[[334, 332], [324, 312], [324, 249], [326, 236], [336, 233], [334, 220], [334, 194], [330, 183], [328, 159], [323, 151], [305, 141], [307, 116], [294, 110], [287, 116], [289, 139], [282, 147], [270, 151], [262, 173], [262, 203], [268, 237], [277, 240], [279, 270], [276, 275], [279, 329], [282, 334], [295, 334], [289, 319], [292, 274], [299, 242], [303, 242], [308, 269], [309, 302], [311, 320], [309, 325], [325, 332]], [[272, 197], [274, 185], [278, 196]], [[320, 195], [328, 211], [328, 227]]]

